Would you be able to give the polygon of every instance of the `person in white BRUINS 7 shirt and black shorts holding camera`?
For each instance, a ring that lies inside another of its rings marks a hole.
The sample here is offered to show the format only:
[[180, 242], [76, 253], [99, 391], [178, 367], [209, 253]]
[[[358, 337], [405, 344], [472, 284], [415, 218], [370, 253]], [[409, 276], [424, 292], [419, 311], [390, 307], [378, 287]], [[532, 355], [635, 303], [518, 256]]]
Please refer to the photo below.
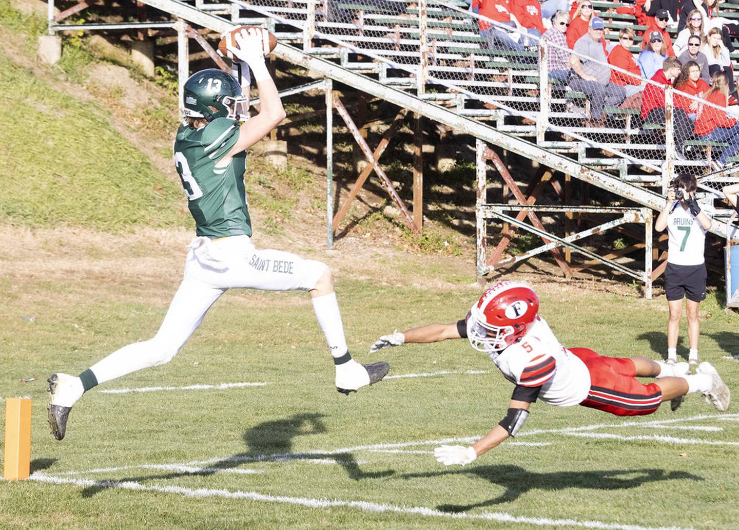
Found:
[[667, 228], [667, 268], [664, 291], [670, 308], [667, 324], [667, 362], [678, 360], [677, 345], [683, 298], [687, 298], [688, 362], [698, 364], [698, 305], [706, 299], [706, 231], [711, 228], [712, 212], [706, 212], [695, 200], [698, 182], [692, 174], [679, 174], [670, 183], [667, 204], [655, 222], [659, 232]]

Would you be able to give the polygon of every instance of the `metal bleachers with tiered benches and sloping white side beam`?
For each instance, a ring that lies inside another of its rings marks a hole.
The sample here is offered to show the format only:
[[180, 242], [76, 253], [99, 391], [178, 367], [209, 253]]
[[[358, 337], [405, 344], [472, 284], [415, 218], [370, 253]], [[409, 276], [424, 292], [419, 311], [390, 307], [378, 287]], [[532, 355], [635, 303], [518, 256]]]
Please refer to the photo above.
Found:
[[[261, 21], [279, 38], [275, 54], [285, 61], [649, 208], [664, 206], [664, 187], [681, 168], [706, 174], [708, 189], [735, 181], [730, 168], [711, 173], [710, 145], [700, 140], [692, 147], [707, 157], [676, 157], [670, 124], [644, 126], [638, 109], [607, 108], [605, 123], [592, 123], [584, 95], [542, 75], [537, 39], [525, 51], [488, 49], [480, 17], [464, 1], [143, 3], [217, 32]], [[593, 4], [611, 34], [628, 25], [641, 35], [616, 4]], [[726, 237], [726, 222], [712, 231]]]

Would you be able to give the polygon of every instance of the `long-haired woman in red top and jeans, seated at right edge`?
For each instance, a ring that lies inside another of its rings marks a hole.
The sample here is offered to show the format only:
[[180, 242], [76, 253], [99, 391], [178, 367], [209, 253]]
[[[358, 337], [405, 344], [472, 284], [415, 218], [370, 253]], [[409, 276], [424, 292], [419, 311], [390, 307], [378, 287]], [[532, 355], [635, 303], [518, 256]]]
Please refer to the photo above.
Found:
[[[725, 108], [726, 101], [729, 100], [729, 79], [724, 72], [716, 72], [712, 81], [713, 86], [705, 93], [704, 100]], [[727, 158], [739, 152], [739, 123], [736, 118], [729, 118], [723, 109], [701, 105], [698, 118], [695, 118], [695, 134], [704, 140], [729, 142], [729, 147], [714, 161], [714, 169], [723, 167]]]

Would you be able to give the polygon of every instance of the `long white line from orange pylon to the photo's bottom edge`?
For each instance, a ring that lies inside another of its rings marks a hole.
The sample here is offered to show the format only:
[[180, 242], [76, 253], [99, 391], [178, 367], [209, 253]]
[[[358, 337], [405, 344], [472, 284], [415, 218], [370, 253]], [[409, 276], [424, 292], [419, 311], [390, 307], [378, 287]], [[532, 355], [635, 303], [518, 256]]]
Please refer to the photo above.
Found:
[[[78, 478], [61, 478], [44, 475], [44, 473], [35, 472], [30, 476], [30, 480], [52, 484], [72, 484], [74, 486], [104, 488], [120, 488], [131, 489], [137, 491], [163, 492], [185, 495], [185, 497], [224, 497], [228, 499], [239, 500], [256, 500], [268, 503], [284, 503], [294, 504], [298, 506], [306, 506], [307, 508], [330, 508], [343, 507], [355, 508], [362, 512], [373, 513], [399, 513], [399, 514], [418, 514], [426, 517], [445, 517], [449, 519], [468, 519], [468, 520], [493, 520], [501, 523], [523, 523], [536, 526], [577, 526], [588, 529], [602, 530], [683, 530], [678, 526], [661, 526], [650, 527], [641, 525], [625, 525], [619, 523], [604, 523], [602, 521], [593, 520], [576, 520], [576, 519], [549, 519], [545, 517], [517, 517], [505, 512], [483, 512], [481, 514], [449, 513], [440, 512], [438, 510], [427, 508], [426, 506], [395, 506], [392, 504], [370, 503], [364, 500], [328, 500], [313, 499], [310, 497], [287, 497], [284, 495], [264, 495], [257, 492], [242, 492], [239, 490], [231, 491], [228, 489], [211, 489], [211, 488], [183, 488], [182, 486], [145, 486], [137, 482], [117, 482], [115, 480], [86, 480]], [[685, 529], [687, 530], [687, 529]]]

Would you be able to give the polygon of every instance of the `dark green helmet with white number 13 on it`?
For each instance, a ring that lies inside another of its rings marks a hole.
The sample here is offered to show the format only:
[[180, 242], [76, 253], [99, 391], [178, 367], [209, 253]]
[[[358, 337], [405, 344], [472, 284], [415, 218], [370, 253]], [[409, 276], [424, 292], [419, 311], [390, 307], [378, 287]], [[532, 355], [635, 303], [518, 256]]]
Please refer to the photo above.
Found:
[[200, 70], [185, 81], [183, 105], [188, 118], [239, 119], [246, 116], [249, 98], [233, 75], [216, 68]]

